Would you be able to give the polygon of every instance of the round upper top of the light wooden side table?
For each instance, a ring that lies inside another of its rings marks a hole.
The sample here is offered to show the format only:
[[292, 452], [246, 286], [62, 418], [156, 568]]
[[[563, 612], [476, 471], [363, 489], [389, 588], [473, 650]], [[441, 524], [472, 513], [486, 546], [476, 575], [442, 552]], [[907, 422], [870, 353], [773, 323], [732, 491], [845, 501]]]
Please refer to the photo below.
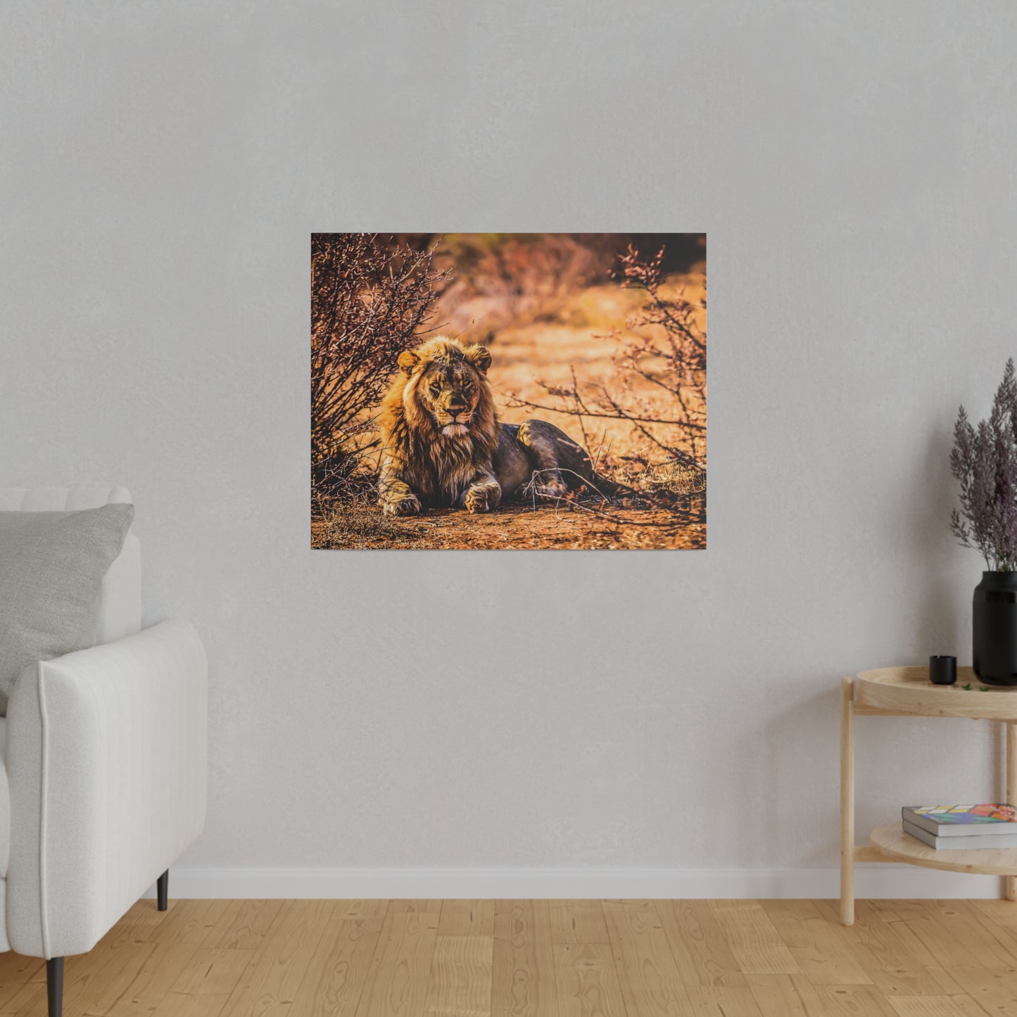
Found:
[[1017, 721], [1017, 686], [983, 685], [970, 667], [957, 668], [955, 685], [934, 685], [926, 667], [880, 667], [855, 679], [855, 703], [924, 717]]

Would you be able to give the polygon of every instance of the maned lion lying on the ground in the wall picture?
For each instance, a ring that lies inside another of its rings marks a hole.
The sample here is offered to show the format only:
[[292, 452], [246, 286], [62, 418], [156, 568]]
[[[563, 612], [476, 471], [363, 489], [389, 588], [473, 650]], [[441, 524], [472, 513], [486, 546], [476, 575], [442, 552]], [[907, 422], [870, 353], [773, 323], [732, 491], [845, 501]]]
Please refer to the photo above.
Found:
[[526, 494], [615, 493], [586, 450], [544, 420], [502, 424], [487, 380], [491, 354], [438, 336], [399, 355], [381, 403], [378, 502], [394, 516], [424, 506], [484, 513]]

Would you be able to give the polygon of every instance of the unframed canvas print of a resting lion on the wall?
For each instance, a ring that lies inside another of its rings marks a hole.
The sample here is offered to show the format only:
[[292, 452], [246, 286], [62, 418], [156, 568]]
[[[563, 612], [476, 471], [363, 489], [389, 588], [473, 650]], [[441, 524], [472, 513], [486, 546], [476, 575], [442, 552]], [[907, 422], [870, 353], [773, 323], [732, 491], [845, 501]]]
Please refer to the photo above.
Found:
[[706, 547], [706, 235], [311, 237], [311, 545]]

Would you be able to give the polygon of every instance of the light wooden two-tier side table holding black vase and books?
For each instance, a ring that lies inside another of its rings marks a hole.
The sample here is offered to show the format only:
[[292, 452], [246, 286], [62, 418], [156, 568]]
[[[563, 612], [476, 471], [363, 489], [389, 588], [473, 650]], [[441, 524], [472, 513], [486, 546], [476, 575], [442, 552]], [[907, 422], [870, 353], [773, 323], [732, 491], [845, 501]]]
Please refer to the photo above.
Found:
[[[970, 689], [963, 686], [970, 683]], [[1005, 876], [1006, 897], [1017, 901], [1017, 848], [937, 851], [908, 836], [900, 820], [877, 827], [871, 843], [854, 843], [854, 718], [968, 717], [997, 720], [1007, 732], [1007, 801], [1017, 799], [1017, 687], [981, 692], [970, 667], [957, 684], [934, 685], [928, 667], [883, 667], [840, 683], [840, 920], [854, 923], [854, 863], [906, 861], [928, 869]]]

